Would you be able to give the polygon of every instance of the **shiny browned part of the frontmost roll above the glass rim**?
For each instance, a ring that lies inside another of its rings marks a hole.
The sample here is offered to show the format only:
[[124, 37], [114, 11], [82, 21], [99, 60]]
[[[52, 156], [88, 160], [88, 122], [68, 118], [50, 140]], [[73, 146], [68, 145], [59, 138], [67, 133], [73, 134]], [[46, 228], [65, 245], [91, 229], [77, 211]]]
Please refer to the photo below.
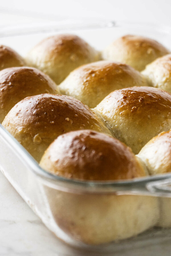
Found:
[[59, 136], [45, 151], [40, 165], [54, 174], [82, 180], [145, 176], [144, 169], [129, 147], [91, 130], [72, 131]]

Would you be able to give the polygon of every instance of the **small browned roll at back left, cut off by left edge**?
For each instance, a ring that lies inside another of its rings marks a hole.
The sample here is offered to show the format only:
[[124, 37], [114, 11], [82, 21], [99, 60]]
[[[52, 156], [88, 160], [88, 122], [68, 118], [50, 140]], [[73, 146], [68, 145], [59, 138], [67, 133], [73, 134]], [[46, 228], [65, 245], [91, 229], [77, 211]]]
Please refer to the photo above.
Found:
[[24, 65], [24, 59], [16, 51], [8, 46], [0, 45], [0, 70]]

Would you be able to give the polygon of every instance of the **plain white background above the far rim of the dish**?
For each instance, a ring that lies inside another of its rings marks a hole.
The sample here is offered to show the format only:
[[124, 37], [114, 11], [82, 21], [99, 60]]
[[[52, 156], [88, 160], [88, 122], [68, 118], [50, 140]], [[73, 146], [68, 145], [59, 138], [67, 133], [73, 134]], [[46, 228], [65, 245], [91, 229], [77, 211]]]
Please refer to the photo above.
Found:
[[[1, 0], [0, 12], [47, 19], [91, 17], [171, 24], [170, 0]], [[0, 18], [1, 24], [5, 18]], [[16, 19], [12, 20], [16, 22]]]

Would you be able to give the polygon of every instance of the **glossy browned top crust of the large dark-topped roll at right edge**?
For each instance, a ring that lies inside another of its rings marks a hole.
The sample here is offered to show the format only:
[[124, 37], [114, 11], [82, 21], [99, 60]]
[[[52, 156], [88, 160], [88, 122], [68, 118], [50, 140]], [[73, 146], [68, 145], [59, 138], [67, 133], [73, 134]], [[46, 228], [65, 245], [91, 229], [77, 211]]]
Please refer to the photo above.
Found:
[[138, 121], [148, 115], [152, 118], [153, 114], [170, 112], [171, 94], [153, 87], [131, 87], [111, 92], [98, 107], [102, 105]]

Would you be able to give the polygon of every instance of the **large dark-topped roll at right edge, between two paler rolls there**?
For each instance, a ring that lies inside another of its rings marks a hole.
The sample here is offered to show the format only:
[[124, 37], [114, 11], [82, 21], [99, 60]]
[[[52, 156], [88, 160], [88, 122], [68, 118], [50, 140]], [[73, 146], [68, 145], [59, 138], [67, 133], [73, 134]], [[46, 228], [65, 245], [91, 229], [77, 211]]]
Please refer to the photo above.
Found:
[[171, 94], [153, 87], [114, 91], [94, 111], [136, 154], [151, 138], [171, 128]]

